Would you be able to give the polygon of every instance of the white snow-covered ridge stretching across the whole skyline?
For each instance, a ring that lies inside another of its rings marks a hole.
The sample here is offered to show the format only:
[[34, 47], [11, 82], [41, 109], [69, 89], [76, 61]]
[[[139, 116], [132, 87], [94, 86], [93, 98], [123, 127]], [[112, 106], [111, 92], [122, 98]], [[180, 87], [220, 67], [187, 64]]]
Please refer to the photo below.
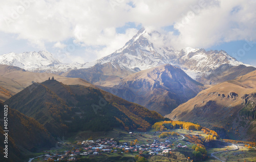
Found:
[[111, 55], [89, 63], [60, 63], [50, 52], [39, 51], [7, 53], [0, 56], [0, 64], [17, 66], [28, 71], [60, 73], [109, 62], [113, 65], [119, 64], [120, 67], [129, 68], [134, 72], [171, 64], [180, 67], [194, 79], [210, 74], [212, 70], [223, 64], [250, 66], [237, 61], [223, 50], [206, 51], [202, 48], [187, 47], [178, 51], [162, 41], [164, 41], [164, 36], [160, 33], [156, 31], [148, 33], [145, 29], [141, 29], [122, 48]]

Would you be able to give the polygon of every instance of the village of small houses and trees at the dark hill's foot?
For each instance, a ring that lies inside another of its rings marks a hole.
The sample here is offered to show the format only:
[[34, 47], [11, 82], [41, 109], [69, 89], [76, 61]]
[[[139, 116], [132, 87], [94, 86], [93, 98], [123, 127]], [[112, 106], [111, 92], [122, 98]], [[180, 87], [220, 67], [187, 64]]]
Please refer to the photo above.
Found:
[[[132, 136], [133, 132], [130, 132]], [[184, 139], [184, 137], [182, 138]], [[180, 140], [182, 140], [180, 139]], [[71, 150], [64, 150], [63, 152], [51, 153], [52, 151], [45, 151], [45, 155], [38, 158], [38, 161], [76, 161], [78, 158], [85, 158], [85, 156], [95, 157], [102, 154], [149, 154], [166, 156], [167, 153], [175, 151], [177, 148], [187, 148], [186, 144], [189, 142], [174, 144], [172, 141], [178, 142], [178, 137], [168, 137], [152, 141], [148, 144], [139, 144], [135, 139], [132, 142], [119, 143], [114, 139], [97, 139], [97, 140], [84, 140], [77, 141], [70, 148]], [[65, 142], [59, 142], [58, 145], [69, 145]], [[37, 160], [34, 160], [37, 161]]]

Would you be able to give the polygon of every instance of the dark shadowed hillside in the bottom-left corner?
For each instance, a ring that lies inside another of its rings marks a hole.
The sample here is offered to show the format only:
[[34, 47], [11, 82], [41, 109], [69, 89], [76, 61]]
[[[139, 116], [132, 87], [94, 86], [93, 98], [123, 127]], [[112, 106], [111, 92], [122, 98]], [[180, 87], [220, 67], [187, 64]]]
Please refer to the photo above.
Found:
[[[0, 117], [4, 119], [4, 104], [0, 103]], [[55, 146], [55, 140], [50, 133], [35, 119], [13, 110], [8, 105], [7, 128], [8, 128], [8, 159], [4, 158], [3, 149], [5, 148], [3, 136], [4, 122], [0, 125], [0, 161], [23, 161], [28, 158], [25, 154], [29, 152], [50, 149]], [[6, 119], [6, 118], [5, 118]]]

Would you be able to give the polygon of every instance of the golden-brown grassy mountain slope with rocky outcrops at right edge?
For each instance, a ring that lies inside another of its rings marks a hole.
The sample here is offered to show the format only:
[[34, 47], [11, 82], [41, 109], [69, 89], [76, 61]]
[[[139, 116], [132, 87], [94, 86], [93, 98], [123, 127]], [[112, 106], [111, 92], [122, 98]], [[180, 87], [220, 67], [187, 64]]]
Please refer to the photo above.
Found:
[[165, 117], [197, 122], [212, 129], [225, 129], [233, 139], [254, 140], [255, 93], [256, 71], [253, 71], [201, 91]]

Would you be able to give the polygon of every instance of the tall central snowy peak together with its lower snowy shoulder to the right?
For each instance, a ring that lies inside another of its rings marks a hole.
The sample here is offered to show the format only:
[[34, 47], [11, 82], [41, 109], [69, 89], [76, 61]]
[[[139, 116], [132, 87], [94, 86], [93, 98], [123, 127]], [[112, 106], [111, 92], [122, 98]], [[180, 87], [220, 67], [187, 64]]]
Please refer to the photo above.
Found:
[[246, 65], [232, 58], [223, 50], [206, 51], [191, 47], [174, 50], [171, 45], [166, 46], [161, 43], [161, 39], [164, 39], [164, 36], [157, 31], [148, 33], [143, 28], [122, 48], [96, 62], [99, 64], [116, 62], [123, 67], [139, 68], [140, 70], [172, 64], [183, 69], [194, 79], [209, 74], [210, 71], [223, 64]]

